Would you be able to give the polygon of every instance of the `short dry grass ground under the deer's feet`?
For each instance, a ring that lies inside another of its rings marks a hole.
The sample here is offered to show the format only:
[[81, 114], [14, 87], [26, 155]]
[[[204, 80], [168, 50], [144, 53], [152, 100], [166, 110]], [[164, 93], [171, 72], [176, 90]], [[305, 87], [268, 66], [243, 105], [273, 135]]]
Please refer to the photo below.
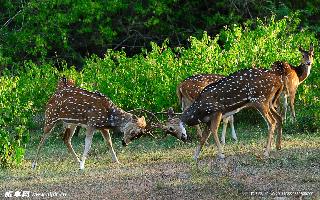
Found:
[[[275, 134], [270, 156], [265, 158], [266, 123], [257, 120], [250, 125], [237, 121], [239, 141], [232, 139], [228, 127], [227, 144], [223, 146], [225, 159], [220, 159], [211, 136], [210, 145], [193, 160], [199, 138], [193, 128], [188, 128], [192, 141], [184, 144], [172, 136], [163, 140], [144, 136], [122, 147], [122, 138], [114, 133], [113, 146], [121, 163], [114, 164], [101, 134], [96, 132], [83, 171], [78, 170], [67, 147], [54, 134], [42, 148], [36, 170], [31, 170], [42, 136], [42, 132], [36, 131], [30, 134], [24, 162], [13, 169], [1, 170], [1, 197], [4, 191], [18, 190], [66, 193], [62, 199], [320, 199], [318, 132], [286, 134], [286, 126], [290, 126], [286, 125], [281, 151], [275, 150]], [[72, 139], [80, 160], [84, 152], [84, 130]], [[251, 192], [313, 192], [314, 195], [254, 196]]]

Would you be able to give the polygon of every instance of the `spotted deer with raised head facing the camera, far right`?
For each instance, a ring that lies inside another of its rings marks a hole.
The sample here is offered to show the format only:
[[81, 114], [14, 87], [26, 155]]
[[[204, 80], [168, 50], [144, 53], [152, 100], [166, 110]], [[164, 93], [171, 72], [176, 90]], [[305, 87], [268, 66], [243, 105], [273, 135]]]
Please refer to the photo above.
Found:
[[[310, 74], [311, 64], [313, 62], [313, 43], [310, 44], [310, 50], [305, 51], [299, 45], [298, 49], [302, 54], [302, 62], [299, 66], [290, 65], [284, 61], [276, 61], [272, 63], [270, 71], [274, 74], [280, 76], [284, 81], [284, 90], [281, 93], [284, 107], [284, 120], [287, 118], [287, 108], [288, 108], [288, 97], [289, 97], [289, 106], [290, 106], [290, 116], [291, 122], [295, 120], [296, 114], [294, 112], [294, 97], [298, 86], [306, 80]], [[280, 104], [280, 98], [277, 101], [278, 112], [281, 113], [282, 107]], [[285, 123], [286, 121], [284, 121]]]

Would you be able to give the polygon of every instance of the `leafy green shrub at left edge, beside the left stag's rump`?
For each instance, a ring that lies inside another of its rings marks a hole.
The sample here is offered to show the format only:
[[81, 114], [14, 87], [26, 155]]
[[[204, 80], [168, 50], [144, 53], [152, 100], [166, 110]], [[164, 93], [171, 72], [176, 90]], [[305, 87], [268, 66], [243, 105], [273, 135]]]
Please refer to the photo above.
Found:
[[0, 77], [0, 166], [9, 167], [14, 161], [23, 160], [24, 149], [29, 134], [28, 121], [35, 116], [32, 101], [25, 101], [26, 90], [20, 85], [20, 78]]

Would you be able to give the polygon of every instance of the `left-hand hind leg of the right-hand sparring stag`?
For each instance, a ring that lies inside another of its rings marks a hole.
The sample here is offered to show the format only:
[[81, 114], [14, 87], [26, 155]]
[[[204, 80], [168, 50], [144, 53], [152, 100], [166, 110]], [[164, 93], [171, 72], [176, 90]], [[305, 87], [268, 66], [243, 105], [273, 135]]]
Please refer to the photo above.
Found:
[[266, 149], [265, 149], [265, 152], [264, 152], [264, 156], [268, 156], [269, 152], [270, 152], [270, 149], [271, 149], [273, 132], [275, 131], [276, 119], [273, 117], [269, 106], [268, 107], [263, 107], [263, 105], [259, 105], [259, 104], [255, 104], [255, 103], [253, 103], [253, 105], [255, 105], [255, 107], [260, 112], [261, 116], [264, 118], [264, 120], [266, 120], [266, 122], [268, 124], [268, 130], [269, 130], [269, 132], [268, 132], [268, 140], [267, 140], [267, 145], [266, 145]]

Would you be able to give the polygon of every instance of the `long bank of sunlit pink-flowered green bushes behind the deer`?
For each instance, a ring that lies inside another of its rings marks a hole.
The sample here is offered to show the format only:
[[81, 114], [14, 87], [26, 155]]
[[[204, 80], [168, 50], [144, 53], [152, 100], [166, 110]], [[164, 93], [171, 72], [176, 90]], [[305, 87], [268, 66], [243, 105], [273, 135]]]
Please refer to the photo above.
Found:
[[[206, 32], [202, 38], [189, 36], [189, 49], [170, 49], [169, 40], [165, 40], [161, 46], [151, 42], [152, 51], [142, 49], [141, 54], [133, 57], [126, 57], [123, 48], [116, 52], [109, 50], [104, 58], [95, 55], [86, 58], [81, 72], [76, 72], [74, 67], [68, 68], [65, 62], [61, 65], [63, 70], [59, 71], [50, 63], [39, 67], [25, 61], [18, 70], [20, 86], [24, 88], [19, 98], [44, 111], [58, 79], [65, 76], [72, 78], [77, 86], [106, 94], [124, 110], [160, 111], [172, 106], [178, 111], [176, 88], [188, 76], [201, 73], [228, 75], [248, 67], [269, 68], [276, 60], [300, 65], [302, 56], [296, 44], [306, 50], [311, 42], [318, 44], [308, 27], [297, 29], [299, 19], [292, 16], [279, 21], [266, 19], [267, 24], [259, 19], [258, 22], [260, 25], [256, 30], [234, 24], [230, 28], [225, 26], [216, 36], [209, 37]], [[224, 44], [222, 48], [220, 40]], [[311, 73], [298, 88], [295, 101], [297, 113], [301, 110], [319, 119], [319, 98], [316, 97], [320, 96], [317, 69], [320, 65], [316, 62], [316, 51]], [[21, 108], [17, 113], [23, 113], [22, 109], [29, 110], [25, 112], [25, 118], [32, 123], [31, 107]]]

